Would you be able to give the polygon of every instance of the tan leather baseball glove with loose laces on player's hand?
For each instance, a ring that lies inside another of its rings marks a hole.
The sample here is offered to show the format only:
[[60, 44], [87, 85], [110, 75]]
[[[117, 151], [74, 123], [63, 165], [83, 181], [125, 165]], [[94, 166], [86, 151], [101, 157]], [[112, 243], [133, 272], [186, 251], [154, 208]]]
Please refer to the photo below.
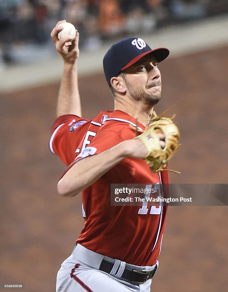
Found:
[[[156, 113], [154, 114], [156, 115]], [[134, 138], [140, 139], [147, 148], [148, 153], [145, 161], [154, 172], [166, 170], [164, 167], [167, 166], [168, 161], [181, 145], [178, 145], [179, 129], [173, 123], [172, 118], [161, 117], [162, 115], [151, 119], [145, 131]], [[161, 148], [160, 139], [156, 134], [158, 132], [163, 133], [165, 136], [164, 149]], [[174, 172], [180, 173], [178, 171]]]

